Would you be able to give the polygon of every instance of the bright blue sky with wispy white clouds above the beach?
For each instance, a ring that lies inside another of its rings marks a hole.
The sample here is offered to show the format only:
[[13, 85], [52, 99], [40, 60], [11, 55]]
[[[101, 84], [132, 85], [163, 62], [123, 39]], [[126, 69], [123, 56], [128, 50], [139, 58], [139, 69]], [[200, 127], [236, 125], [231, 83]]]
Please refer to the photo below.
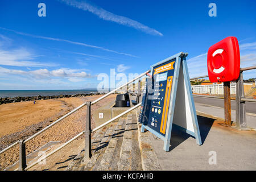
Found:
[[2, 0], [0, 89], [97, 88], [100, 73], [142, 73], [181, 51], [190, 77], [207, 75], [208, 48], [227, 36], [240, 43], [241, 67], [256, 65], [255, 9], [245, 0]]

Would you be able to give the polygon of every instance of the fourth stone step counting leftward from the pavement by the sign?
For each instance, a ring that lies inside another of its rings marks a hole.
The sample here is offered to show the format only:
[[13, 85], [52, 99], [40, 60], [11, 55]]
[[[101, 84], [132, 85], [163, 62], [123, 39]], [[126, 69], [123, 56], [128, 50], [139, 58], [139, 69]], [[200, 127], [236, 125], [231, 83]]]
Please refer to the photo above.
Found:
[[108, 147], [109, 141], [112, 138], [112, 134], [116, 125], [117, 125], [117, 122], [110, 124], [109, 129], [106, 131], [100, 144], [98, 145], [96, 150], [93, 152], [94, 154], [92, 155], [92, 158], [90, 158], [89, 162], [86, 165], [82, 165], [79, 168], [80, 171], [91, 171], [92, 169], [97, 170], [97, 167], [101, 162], [102, 156], [104, 155], [104, 152]]

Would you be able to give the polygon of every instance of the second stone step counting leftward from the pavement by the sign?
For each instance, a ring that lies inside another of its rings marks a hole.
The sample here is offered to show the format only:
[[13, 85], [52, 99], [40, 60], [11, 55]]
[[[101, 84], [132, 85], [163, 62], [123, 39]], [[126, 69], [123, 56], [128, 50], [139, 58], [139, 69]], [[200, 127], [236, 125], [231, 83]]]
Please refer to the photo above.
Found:
[[123, 135], [118, 171], [142, 170], [136, 114], [129, 114]]

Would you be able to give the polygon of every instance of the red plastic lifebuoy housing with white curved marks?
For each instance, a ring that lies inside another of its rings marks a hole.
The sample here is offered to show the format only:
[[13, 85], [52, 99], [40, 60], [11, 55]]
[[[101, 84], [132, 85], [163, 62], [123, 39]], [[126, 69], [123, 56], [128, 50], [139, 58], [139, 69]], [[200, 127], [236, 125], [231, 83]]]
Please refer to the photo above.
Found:
[[237, 80], [240, 73], [240, 51], [237, 38], [229, 36], [211, 46], [207, 55], [210, 82]]

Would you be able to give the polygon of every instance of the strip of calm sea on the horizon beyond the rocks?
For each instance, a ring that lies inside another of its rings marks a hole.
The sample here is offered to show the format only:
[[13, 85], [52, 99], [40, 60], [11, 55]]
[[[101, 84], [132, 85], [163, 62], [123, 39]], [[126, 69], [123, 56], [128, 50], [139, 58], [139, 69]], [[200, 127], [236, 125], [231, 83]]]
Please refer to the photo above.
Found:
[[0, 90], [0, 97], [57, 96], [60, 94], [82, 94], [98, 92], [97, 89], [84, 90]]

